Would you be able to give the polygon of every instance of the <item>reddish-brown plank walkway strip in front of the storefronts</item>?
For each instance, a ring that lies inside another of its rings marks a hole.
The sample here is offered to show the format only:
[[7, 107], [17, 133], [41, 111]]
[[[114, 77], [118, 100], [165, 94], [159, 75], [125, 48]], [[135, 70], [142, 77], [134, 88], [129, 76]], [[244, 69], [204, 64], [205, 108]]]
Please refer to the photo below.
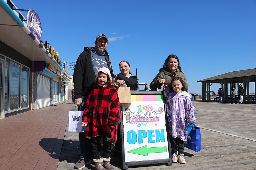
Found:
[[[49, 169], [57, 169], [70, 103], [61, 102], [1, 119], [0, 170], [41, 170], [49, 162]], [[6, 128], [11, 123], [16, 125], [14, 130]]]

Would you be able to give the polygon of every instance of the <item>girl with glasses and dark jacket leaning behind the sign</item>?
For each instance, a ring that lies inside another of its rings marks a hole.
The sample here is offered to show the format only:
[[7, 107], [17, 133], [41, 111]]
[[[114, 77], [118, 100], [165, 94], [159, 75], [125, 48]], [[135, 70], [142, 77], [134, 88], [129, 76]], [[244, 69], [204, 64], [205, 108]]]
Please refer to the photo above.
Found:
[[119, 63], [119, 69], [121, 73], [116, 75], [116, 81], [120, 85], [126, 84], [127, 87], [130, 87], [130, 90], [137, 90], [137, 76], [132, 76], [130, 72], [131, 66], [128, 61], [121, 61]]

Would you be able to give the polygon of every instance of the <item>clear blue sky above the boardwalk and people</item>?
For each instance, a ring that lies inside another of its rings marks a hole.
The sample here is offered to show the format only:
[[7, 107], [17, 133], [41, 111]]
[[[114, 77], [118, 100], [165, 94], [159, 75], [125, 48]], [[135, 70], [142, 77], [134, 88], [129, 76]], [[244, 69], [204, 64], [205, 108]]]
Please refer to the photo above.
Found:
[[179, 57], [189, 93], [202, 93], [198, 80], [256, 68], [256, 0], [12, 2], [37, 11], [42, 40], [50, 42], [62, 62], [76, 62], [84, 46], [94, 46], [104, 33], [114, 74], [127, 60], [132, 74], [137, 68], [139, 82], [148, 85], [169, 54]]

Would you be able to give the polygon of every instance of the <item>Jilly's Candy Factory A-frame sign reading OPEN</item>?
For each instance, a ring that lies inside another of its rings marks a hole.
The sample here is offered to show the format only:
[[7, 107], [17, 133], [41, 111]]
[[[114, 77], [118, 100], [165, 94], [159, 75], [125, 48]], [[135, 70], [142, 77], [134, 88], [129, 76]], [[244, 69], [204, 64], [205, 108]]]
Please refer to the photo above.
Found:
[[121, 107], [122, 169], [150, 164], [172, 165], [163, 91], [131, 91], [132, 104]]

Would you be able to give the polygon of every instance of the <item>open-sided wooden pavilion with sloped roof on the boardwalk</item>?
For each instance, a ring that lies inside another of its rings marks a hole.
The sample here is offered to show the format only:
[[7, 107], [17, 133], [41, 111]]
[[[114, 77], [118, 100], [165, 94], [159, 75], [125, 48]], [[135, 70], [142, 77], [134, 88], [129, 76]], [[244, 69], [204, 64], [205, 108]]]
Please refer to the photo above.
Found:
[[221, 85], [223, 90], [223, 102], [227, 102], [229, 100], [228, 92], [230, 92], [232, 88], [235, 88], [237, 93], [237, 89], [240, 85], [243, 85], [244, 87], [243, 103], [255, 102], [255, 93], [250, 95], [249, 83], [254, 82], [256, 92], [256, 69], [232, 71], [211, 78], [199, 80], [197, 82], [202, 83], [202, 101], [211, 100], [211, 85], [213, 83], [218, 83]]

